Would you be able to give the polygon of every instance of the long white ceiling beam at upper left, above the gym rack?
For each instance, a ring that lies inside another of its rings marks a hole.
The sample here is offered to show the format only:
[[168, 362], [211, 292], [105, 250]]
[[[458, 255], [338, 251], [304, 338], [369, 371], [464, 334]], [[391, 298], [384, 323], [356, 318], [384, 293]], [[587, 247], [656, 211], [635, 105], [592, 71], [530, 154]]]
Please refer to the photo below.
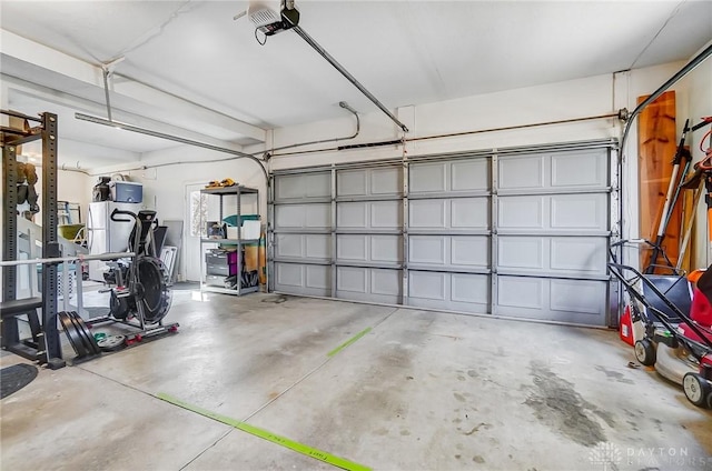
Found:
[[[85, 62], [1, 29], [0, 52], [6, 57], [37, 66], [78, 82], [79, 87], [76, 87], [75, 90], [60, 91], [77, 94], [92, 101], [101, 98], [101, 101], [103, 101], [103, 72], [99, 66]], [[8, 70], [6, 63], [3, 63], [3, 72], [13, 74], [11, 70]], [[57, 84], [57, 81], [52, 81], [52, 84], [49, 84], [41, 83], [41, 80], [36, 81], [33, 78], [20, 78], [46, 87]], [[89, 90], [86, 90], [86, 86], [90, 86]], [[98, 92], [101, 92], [101, 94]], [[244, 137], [265, 142], [266, 131], [261, 128], [209, 110], [175, 94], [119, 77], [119, 73], [117, 73], [113, 81], [110, 99], [112, 108], [116, 107], [129, 113], [164, 121], [180, 128], [194, 129], [225, 141], [238, 140]]]

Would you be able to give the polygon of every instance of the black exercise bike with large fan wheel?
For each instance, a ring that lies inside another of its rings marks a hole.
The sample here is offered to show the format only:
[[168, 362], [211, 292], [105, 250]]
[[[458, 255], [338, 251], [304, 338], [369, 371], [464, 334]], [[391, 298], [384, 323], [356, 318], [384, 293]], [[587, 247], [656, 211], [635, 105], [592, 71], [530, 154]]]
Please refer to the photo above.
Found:
[[134, 213], [115, 209], [110, 218], [117, 222], [134, 222], [128, 245], [134, 255], [111, 263], [111, 270], [105, 273], [105, 281], [111, 285], [109, 315], [91, 323], [116, 321], [139, 328], [140, 332], [127, 337], [127, 343], [140, 341], [144, 337], [176, 332], [178, 323], [162, 323], [172, 297], [168, 274], [156, 251], [156, 211]]

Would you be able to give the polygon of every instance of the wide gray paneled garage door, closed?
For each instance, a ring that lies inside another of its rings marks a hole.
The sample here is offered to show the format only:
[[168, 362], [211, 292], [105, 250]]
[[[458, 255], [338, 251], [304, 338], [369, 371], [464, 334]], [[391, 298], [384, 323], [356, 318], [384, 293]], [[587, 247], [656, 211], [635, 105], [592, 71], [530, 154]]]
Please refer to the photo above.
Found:
[[275, 172], [271, 289], [604, 325], [615, 142]]

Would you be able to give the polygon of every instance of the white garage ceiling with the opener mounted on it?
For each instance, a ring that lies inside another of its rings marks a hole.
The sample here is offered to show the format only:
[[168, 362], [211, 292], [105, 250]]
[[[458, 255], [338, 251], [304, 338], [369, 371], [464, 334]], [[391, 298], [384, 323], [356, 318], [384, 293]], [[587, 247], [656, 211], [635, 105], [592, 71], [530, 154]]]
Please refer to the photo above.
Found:
[[[277, 0], [263, 3], [278, 9]], [[0, 46], [2, 72], [41, 86], [11, 90], [8, 106], [58, 112], [60, 136], [90, 142], [96, 159], [99, 147], [125, 151], [102, 163], [175, 146], [73, 119], [106, 117], [100, 64], [120, 58], [110, 68], [115, 119], [210, 143], [258, 143], [267, 129], [348, 116], [339, 101], [377, 111], [294, 31], [260, 46], [248, 18], [233, 19], [247, 6], [3, 0], [0, 26], [13, 41], [6, 33]], [[297, 0], [297, 8], [299, 26], [390, 110], [686, 60], [712, 38], [709, 1]]]

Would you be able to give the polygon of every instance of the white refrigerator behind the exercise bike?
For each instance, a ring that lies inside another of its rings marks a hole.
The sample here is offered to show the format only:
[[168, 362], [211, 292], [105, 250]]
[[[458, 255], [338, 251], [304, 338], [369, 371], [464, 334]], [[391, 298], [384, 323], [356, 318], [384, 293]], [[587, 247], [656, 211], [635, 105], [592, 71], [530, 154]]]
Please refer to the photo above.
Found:
[[[134, 229], [131, 222], [116, 222], [110, 216], [115, 209], [137, 213], [141, 208], [138, 203], [117, 203], [115, 201], [100, 201], [89, 203], [87, 217], [87, 244], [89, 253], [126, 252], [129, 245], [129, 236]], [[127, 219], [128, 217], [122, 216]], [[89, 262], [89, 279], [103, 281], [107, 264], [101, 260]]]

